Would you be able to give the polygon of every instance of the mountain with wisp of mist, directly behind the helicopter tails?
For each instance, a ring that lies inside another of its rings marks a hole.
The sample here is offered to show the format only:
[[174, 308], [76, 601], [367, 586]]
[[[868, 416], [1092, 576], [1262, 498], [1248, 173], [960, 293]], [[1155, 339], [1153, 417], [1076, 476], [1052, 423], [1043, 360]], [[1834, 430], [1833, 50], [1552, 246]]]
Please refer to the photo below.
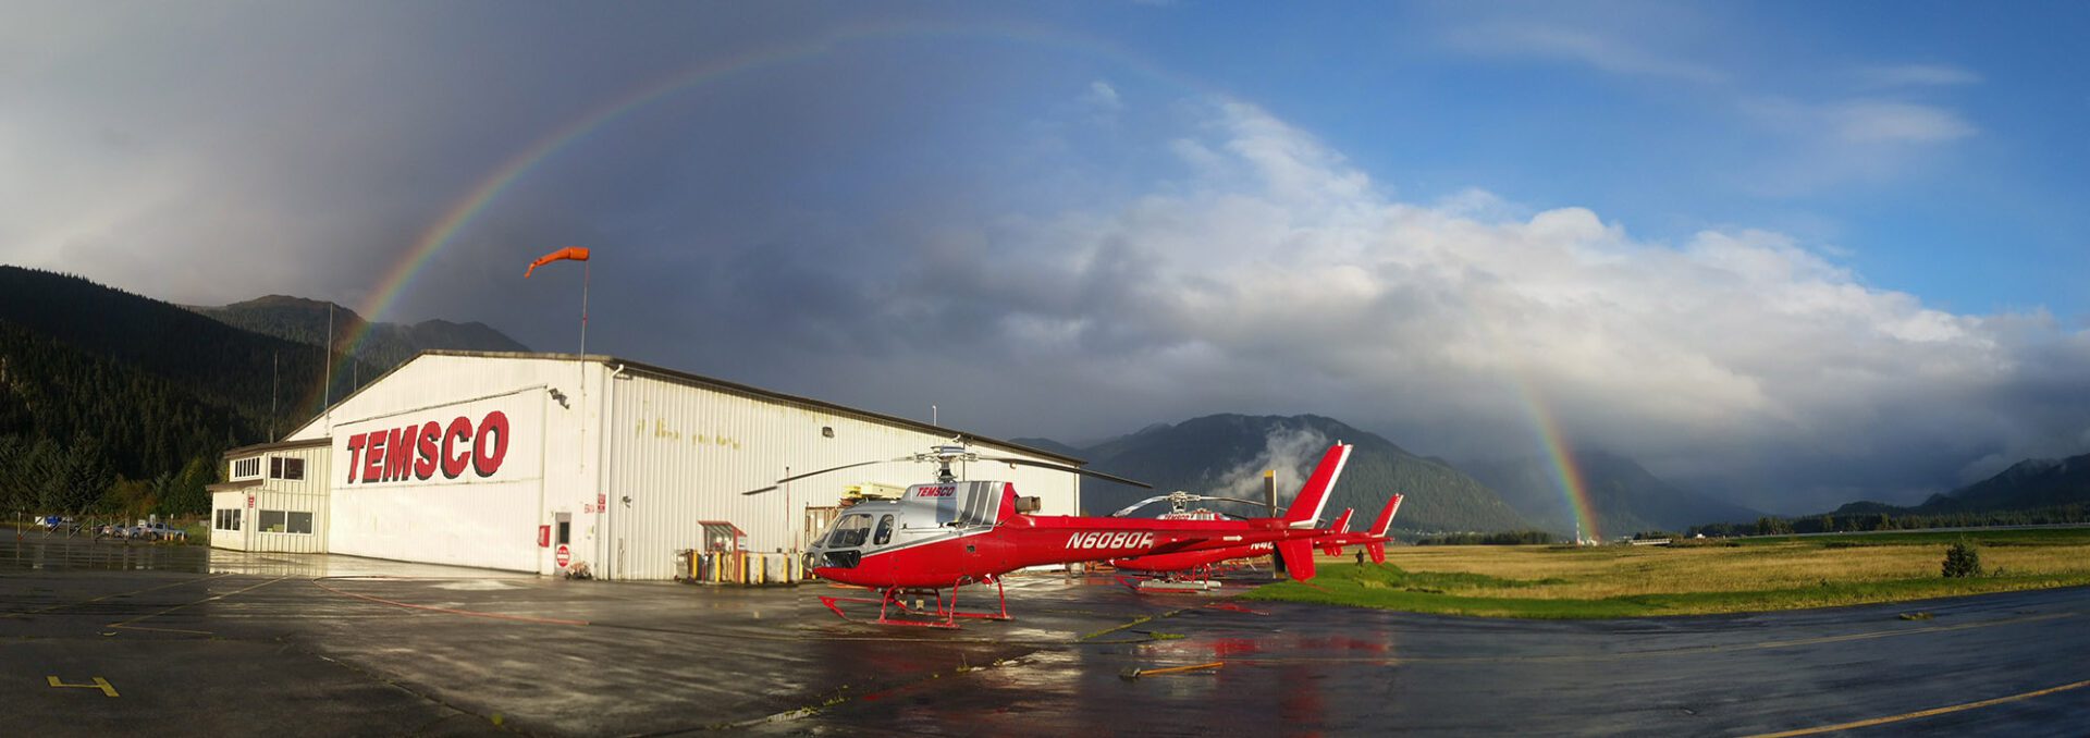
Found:
[[[1394, 491], [1404, 493], [1402, 531], [1513, 531], [1526, 529], [1522, 516], [1503, 504], [1494, 491], [1440, 460], [1421, 458], [1373, 433], [1358, 431], [1323, 416], [1204, 416], [1179, 424], [1156, 424], [1145, 431], [1076, 449], [1043, 439], [1024, 439], [1045, 449], [1066, 449], [1089, 460], [1089, 468], [1152, 483], [1156, 491], [1083, 481], [1083, 506], [1089, 514], [1110, 514], [1158, 491], [1185, 489], [1258, 500], [1262, 470], [1283, 466], [1294, 479], [1304, 479], [1313, 464], [1336, 441], [1356, 445], [1350, 464], [1336, 483], [1327, 514], [1356, 508], [1369, 521]], [[1290, 498], [1292, 489], [1279, 489]], [[1141, 510], [1156, 514], [1158, 508]], [[1239, 510], [1235, 512], [1252, 512]], [[1260, 514], [1260, 512], [1256, 512]]]

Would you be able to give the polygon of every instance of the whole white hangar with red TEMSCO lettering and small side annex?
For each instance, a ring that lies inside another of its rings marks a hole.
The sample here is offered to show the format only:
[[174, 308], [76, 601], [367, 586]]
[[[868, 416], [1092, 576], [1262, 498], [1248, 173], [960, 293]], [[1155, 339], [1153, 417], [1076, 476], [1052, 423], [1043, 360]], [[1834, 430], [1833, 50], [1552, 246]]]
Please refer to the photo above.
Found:
[[[775, 479], [949, 443], [1081, 460], [610, 355], [424, 351], [278, 443], [226, 454], [211, 546], [673, 579], [686, 550], [800, 552], [851, 489], [926, 481], [926, 464]], [[1043, 514], [1081, 477], [976, 462]]]

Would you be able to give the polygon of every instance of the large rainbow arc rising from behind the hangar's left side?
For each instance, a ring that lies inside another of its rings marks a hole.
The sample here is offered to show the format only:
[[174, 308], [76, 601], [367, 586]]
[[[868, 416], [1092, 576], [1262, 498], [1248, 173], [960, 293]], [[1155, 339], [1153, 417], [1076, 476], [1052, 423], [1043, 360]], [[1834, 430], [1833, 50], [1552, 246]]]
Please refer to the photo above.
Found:
[[[589, 134], [594, 134], [596, 130], [633, 111], [640, 111], [652, 102], [673, 96], [677, 92], [686, 92], [692, 88], [700, 88], [713, 82], [721, 82], [759, 69], [769, 69], [794, 61], [821, 56], [832, 52], [840, 44], [865, 42], [865, 40], [913, 40], [924, 36], [989, 38], [997, 42], [1028, 42], [1049, 48], [1072, 48], [1078, 52], [1087, 52], [1091, 56], [1112, 59], [1145, 77], [1170, 82], [1177, 86], [1200, 88], [1198, 84], [1172, 75], [1152, 65], [1145, 59], [1104, 46], [1095, 40], [1070, 36], [1053, 27], [1022, 25], [1022, 23], [1003, 23], [995, 27], [940, 25], [940, 23], [872, 23], [851, 29], [838, 29], [798, 44], [784, 44], [775, 48], [744, 52], [738, 56], [704, 61], [686, 67], [681, 71], [675, 71], [667, 77], [660, 77], [652, 84], [644, 84], [625, 94], [612, 96], [606, 105], [596, 107], [594, 113], [575, 117], [566, 125], [560, 125], [550, 134], [539, 136], [533, 144], [525, 146], [522, 151], [512, 155], [506, 163], [502, 163], [491, 174], [481, 178], [477, 186], [472, 186], [462, 199], [451, 203], [451, 207], [443, 211], [443, 215], [437, 217], [435, 224], [431, 224], [428, 230], [424, 230], [418, 240], [414, 240], [414, 247], [408, 249], [408, 253], [399, 257], [399, 261], [393, 263], [389, 272], [385, 272], [376, 289], [372, 289], [368, 299], [364, 299], [362, 307], [357, 307], [357, 314], [362, 314], [364, 324], [351, 330], [347, 335], [347, 341], [343, 341], [334, 349], [339, 351], [339, 364], [334, 366], [334, 374], [341, 374], [349, 366], [349, 362], [353, 362], [364, 341], [370, 339], [370, 326], [382, 320], [387, 312], [391, 312], [391, 305], [399, 299], [399, 295], [403, 295], [410, 286], [414, 286], [414, 278], [422, 272], [422, 268], [426, 268], [428, 261], [437, 253], [441, 253], [458, 236], [460, 230], [477, 222], [479, 215], [485, 213], [487, 205], [491, 205], [504, 192], [508, 192], [508, 188], [514, 186], [516, 180], [531, 174], [548, 159], [554, 159], [560, 151], [566, 151], [573, 144], [589, 138]], [[550, 251], [554, 245], [533, 245], [533, 247]], [[518, 259], [516, 263], [525, 261]], [[316, 387], [305, 406], [320, 408], [324, 393], [326, 387]]]

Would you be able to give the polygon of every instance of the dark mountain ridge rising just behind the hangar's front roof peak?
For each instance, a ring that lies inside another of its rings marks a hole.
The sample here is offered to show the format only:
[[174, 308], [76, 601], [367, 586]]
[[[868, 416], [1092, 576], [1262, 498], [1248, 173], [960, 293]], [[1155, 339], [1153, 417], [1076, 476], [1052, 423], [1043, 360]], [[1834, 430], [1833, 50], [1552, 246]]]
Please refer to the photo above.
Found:
[[[332, 316], [328, 316], [328, 307], [332, 307]], [[286, 295], [268, 295], [219, 307], [188, 305], [188, 309], [240, 330], [316, 347], [332, 345], [341, 351], [347, 351], [347, 343], [366, 326], [364, 316], [357, 316], [353, 309]], [[334, 330], [332, 343], [326, 337], [328, 322], [332, 322]], [[483, 322], [422, 320], [412, 326], [378, 322], [368, 324], [368, 328], [370, 335], [355, 347], [355, 358], [380, 374], [405, 364], [405, 360], [412, 360], [422, 349], [529, 351], [522, 343]]]

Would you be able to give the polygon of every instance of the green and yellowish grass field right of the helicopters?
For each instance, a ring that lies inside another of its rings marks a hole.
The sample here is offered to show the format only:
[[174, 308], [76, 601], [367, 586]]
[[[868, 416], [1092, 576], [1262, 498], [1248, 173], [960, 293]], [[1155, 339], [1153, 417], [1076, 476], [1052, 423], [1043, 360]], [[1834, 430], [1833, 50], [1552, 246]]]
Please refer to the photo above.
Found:
[[[1950, 544], [1981, 577], [1940, 575]], [[1812, 535], [1655, 546], [1415, 546], [1386, 564], [1325, 558], [1308, 583], [1250, 600], [1411, 613], [1588, 619], [1791, 610], [1983, 592], [2090, 585], [2090, 529]]]

